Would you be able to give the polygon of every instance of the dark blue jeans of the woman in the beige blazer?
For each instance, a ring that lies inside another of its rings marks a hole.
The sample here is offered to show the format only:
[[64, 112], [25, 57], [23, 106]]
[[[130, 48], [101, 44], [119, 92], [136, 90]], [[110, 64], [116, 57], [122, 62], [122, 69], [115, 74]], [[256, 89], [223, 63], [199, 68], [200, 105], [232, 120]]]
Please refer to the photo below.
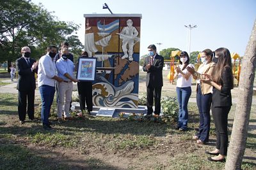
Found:
[[210, 109], [212, 103], [212, 94], [202, 94], [201, 86], [197, 86], [196, 103], [199, 111], [199, 130], [196, 136], [202, 141], [209, 141], [209, 132], [211, 124]]

